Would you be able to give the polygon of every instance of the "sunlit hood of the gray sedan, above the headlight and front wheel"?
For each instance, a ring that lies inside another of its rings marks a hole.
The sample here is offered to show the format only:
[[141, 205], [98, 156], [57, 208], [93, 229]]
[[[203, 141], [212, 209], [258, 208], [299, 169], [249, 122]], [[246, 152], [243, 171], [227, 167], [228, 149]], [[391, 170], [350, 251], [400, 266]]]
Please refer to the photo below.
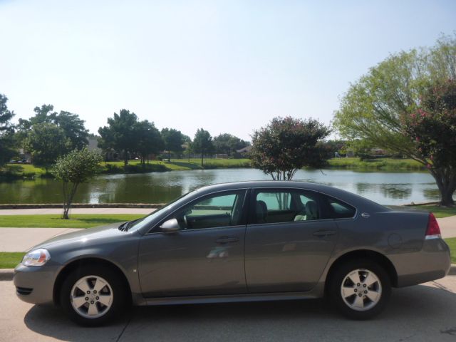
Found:
[[121, 232], [118, 229], [120, 224], [122, 224], [122, 222], [108, 224], [106, 226], [81, 229], [79, 232], [61, 234], [57, 237], [52, 237], [51, 239], [41, 242], [41, 244], [37, 244], [31, 249], [48, 248], [56, 245], [71, 244], [75, 242], [84, 242], [85, 244], [88, 244], [91, 240], [98, 241], [99, 239], [120, 236], [122, 234], [125, 234], [125, 232]]

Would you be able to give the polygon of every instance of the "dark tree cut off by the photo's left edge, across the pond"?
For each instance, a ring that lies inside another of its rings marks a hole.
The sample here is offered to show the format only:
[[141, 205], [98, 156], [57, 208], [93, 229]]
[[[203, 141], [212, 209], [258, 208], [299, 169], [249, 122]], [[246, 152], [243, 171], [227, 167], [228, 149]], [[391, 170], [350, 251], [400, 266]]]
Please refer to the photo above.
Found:
[[5, 165], [15, 153], [14, 126], [11, 124], [14, 112], [8, 109], [6, 102], [8, 102], [8, 98], [0, 94], [0, 167]]

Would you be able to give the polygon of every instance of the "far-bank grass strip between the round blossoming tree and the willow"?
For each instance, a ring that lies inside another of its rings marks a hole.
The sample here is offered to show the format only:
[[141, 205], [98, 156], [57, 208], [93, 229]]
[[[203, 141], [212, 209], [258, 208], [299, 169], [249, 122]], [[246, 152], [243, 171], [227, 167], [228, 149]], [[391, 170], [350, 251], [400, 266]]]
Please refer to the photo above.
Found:
[[368, 159], [358, 157], [332, 158], [328, 160], [329, 167], [338, 169], [382, 170], [382, 171], [418, 171], [426, 170], [423, 164], [412, 159]]

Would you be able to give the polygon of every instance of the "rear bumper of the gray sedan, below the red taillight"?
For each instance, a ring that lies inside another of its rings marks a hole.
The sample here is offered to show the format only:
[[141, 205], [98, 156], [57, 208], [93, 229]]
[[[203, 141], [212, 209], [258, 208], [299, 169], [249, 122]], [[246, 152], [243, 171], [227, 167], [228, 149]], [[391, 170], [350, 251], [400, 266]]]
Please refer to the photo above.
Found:
[[389, 257], [398, 273], [398, 287], [443, 278], [451, 267], [450, 249], [442, 239], [425, 240], [420, 252]]

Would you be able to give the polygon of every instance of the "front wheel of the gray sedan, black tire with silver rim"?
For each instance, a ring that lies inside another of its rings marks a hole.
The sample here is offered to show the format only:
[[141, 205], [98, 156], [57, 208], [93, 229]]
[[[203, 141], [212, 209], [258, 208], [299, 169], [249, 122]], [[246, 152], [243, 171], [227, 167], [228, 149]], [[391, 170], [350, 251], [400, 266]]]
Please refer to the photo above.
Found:
[[83, 266], [63, 281], [60, 304], [72, 321], [101, 326], [123, 313], [128, 293], [118, 272], [106, 266]]

